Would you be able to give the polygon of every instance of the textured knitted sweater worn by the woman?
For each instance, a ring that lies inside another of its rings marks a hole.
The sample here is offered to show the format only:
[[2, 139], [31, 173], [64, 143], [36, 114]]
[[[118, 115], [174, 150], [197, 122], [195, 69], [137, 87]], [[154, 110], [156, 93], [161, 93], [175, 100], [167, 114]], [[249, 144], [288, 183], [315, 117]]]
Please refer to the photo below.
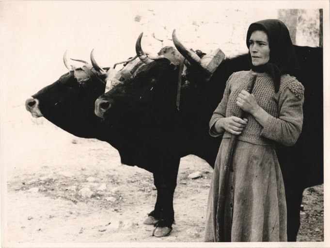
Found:
[[[281, 76], [280, 90], [275, 93], [272, 78], [265, 73], [239, 71], [233, 73], [227, 83], [223, 98], [210, 120], [210, 135], [219, 136], [214, 129], [217, 120], [223, 117], [237, 116], [239, 107], [236, 105], [238, 94], [247, 89], [253, 74], [257, 75], [252, 90], [258, 105], [271, 116], [262, 127], [252, 115], [248, 114], [248, 123], [237, 139], [256, 145], [274, 145], [279, 142], [285, 146], [293, 146], [302, 128], [302, 104], [304, 87], [290, 75]], [[230, 138], [231, 133], [224, 132], [223, 138]]]

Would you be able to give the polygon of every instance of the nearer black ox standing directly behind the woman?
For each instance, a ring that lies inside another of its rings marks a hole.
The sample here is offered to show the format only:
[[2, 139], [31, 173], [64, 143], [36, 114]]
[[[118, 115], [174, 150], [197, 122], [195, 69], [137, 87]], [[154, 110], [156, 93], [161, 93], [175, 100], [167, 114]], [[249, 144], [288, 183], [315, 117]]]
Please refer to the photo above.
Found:
[[[172, 230], [180, 158], [194, 154], [214, 165], [221, 138], [209, 136], [208, 122], [228, 77], [250, 69], [247, 54], [226, 58], [205, 83], [207, 73], [196, 54], [185, 49], [175, 33], [173, 41], [190, 65], [182, 80], [186, 83], [181, 87], [180, 110], [176, 108], [179, 66], [165, 58], [146, 59], [141, 39], [137, 54], [147, 64], [95, 102], [95, 114], [122, 137], [118, 149], [122, 163], [153, 173], [157, 199], [147, 222], [156, 223], [156, 236]], [[295, 50], [301, 67], [295, 76], [305, 87], [304, 124], [294, 147], [276, 148], [285, 185], [288, 241], [296, 241], [303, 190], [323, 182], [323, 50], [299, 46]]]

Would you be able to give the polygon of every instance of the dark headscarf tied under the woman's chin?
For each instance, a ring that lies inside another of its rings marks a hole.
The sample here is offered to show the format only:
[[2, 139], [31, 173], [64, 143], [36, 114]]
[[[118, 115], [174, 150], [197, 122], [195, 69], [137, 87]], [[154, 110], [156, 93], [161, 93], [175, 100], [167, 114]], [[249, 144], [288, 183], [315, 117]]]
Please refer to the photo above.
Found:
[[292, 45], [290, 33], [285, 24], [277, 19], [267, 19], [254, 22], [250, 25], [246, 36], [246, 45], [250, 48], [251, 34], [256, 31], [264, 31], [268, 36], [269, 61], [265, 65], [253, 66], [249, 50], [249, 63], [251, 69], [256, 72], [268, 72], [273, 78], [275, 92], [279, 91], [281, 75], [294, 75], [299, 69], [299, 63], [295, 49]]

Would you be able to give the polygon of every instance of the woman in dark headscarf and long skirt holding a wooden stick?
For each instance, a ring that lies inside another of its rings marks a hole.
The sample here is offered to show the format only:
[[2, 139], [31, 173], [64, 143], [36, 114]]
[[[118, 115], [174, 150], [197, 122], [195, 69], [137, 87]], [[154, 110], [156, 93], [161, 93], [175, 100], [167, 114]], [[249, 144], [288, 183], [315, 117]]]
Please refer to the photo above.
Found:
[[[250, 71], [233, 73], [210, 120], [210, 134], [223, 134], [208, 198], [205, 241], [286, 241], [286, 204], [275, 142], [293, 146], [302, 128], [304, 88], [288, 29], [267, 19], [252, 23], [246, 44]], [[254, 83], [252, 94], [248, 85]], [[245, 117], [237, 117], [239, 109]], [[230, 137], [237, 136], [226, 165]], [[225, 185], [225, 166], [229, 166]], [[221, 192], [224, 192], [222, 194]]]

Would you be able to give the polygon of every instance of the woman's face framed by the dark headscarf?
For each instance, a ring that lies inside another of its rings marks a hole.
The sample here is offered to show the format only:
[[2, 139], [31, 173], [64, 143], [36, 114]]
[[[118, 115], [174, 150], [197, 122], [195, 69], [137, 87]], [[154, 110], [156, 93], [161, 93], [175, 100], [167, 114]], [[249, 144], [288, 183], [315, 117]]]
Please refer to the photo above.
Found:
[[269, 61], [269, 43], [267, 33], [256, 30], [251, 33], [250, 37], [250, 53], [253, 66], [264, 65]]

